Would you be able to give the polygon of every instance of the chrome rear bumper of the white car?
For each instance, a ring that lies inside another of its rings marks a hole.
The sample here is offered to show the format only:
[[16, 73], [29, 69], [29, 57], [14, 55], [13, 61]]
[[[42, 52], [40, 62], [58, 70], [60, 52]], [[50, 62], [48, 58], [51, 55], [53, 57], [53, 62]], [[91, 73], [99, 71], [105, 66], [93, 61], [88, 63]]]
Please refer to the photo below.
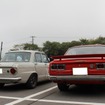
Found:
[[19, 82], [20, 80], [21, 80], [21, 77], [16, 77], [16, 78], [0, 77], [0, 83], [15, 83], [15, 82]]

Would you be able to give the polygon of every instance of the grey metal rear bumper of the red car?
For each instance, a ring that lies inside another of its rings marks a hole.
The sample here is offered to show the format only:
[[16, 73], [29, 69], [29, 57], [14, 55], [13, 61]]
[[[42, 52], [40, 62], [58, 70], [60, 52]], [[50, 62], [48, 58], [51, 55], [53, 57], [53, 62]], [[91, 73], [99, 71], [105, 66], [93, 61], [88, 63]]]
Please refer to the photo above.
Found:
[[105, 75], [50, 76], [52, 81], [104, 81]]

